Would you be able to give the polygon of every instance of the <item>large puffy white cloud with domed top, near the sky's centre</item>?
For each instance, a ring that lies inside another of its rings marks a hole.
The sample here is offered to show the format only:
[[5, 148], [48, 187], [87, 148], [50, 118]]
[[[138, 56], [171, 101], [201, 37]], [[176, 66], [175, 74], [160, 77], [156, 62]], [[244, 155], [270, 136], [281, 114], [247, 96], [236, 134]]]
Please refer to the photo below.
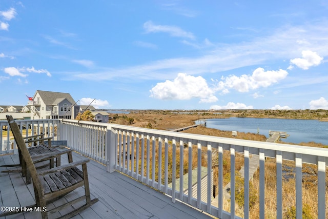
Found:
[[214, 91], [209, 88], [203, 77], [195, 77], [186, 73], [178, 73], [173, 81], [157, 83], [150, 92], [150, 96], [157, 99], [201, 98], [201, 103], [217, 101]]

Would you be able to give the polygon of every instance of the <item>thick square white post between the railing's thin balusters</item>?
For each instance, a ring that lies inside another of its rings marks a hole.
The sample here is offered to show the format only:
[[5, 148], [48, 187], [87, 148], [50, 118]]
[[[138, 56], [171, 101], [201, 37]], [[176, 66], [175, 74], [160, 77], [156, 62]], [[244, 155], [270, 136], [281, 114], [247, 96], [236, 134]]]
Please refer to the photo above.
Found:
[[115, 130], [108, 127], [106, 133], [106, 153], [107, 153], [107, 172], [115, 171], [115, 147], [116, 147], [116, 138]]

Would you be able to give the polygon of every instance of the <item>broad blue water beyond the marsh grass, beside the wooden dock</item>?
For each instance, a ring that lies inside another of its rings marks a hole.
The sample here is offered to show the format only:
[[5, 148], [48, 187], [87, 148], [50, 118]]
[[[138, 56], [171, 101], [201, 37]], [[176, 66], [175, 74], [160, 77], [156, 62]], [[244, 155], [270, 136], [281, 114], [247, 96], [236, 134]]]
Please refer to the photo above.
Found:
[[284, 142], [316, 142], [328, 145], [328, 122], [318, 120], [288, 120], [280, 118], [213, 118], [207, 120], [208, 128], [251, 132], [269, 137], [269, 130], [286, 132], [290, 136]]

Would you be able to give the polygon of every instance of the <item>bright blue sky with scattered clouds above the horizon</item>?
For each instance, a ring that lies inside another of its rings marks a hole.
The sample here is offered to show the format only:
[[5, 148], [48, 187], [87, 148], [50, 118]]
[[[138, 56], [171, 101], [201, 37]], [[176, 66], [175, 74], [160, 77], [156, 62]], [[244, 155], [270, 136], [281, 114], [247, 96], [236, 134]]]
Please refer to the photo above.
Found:
[[328, 109], [327, 1], [0, 3], [0, 105]]

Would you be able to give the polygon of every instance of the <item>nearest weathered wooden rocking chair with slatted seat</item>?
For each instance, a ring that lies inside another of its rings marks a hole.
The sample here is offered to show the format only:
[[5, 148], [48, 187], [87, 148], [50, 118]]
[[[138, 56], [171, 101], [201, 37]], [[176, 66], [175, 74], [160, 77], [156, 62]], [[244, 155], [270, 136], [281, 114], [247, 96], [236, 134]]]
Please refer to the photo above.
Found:
[[[76, 208], [74, 211], [62, 216], [61, 218], [70, 218], [79, 212], [85, 210], [90, 207], [94, 203], [98, 201], [98, 198], [94, 198], [91, 200], [90, 197], [90, 189], [89, 189], [89, 180], [88, 180], [88, 171], [87, 171], [87, 163], [89, 159], [81, 160], [78, 162], [69, 163], [67, 165], [62, 165], [59, 167], [54, 167], [52, 169], [47, 169], [43, 171], [36, 171], [35, 165], [32, 161], [31, 155], [25, 145], [24, 138], [19, 131], [17, 123], [13, 120], [11, 115], [7, 115], [7, 120], [9, 122], [11, 131], [14, 135], [16, 144], [18, 145], [20, 151], [22, 152], [22, 158], [26, 163], [27, 169], [29, 170], [32, 180], [33, 180], [33, 188], [35, 194], [35, 202], [36, 204], [27, 206], [27, 207], [46, 207], [47, 204], [52, 203], [55, 200], [65, 196], [69, 192], [83, 187], [85, 189], [85, 195], [76, 198], [75, 200], [65, 203], [61, 206], [56, 207], [55, 209], [49, 210], [47, 208], [47, 212], [42, 211], [42, 217], [48, 218], [48, 213], [57, 212], [61, 209], [64, 209], [72, 204], [81, 202], [83, 200], [86, 201], [86, 204]], [[54, 157], [54, 156], [50, 156]], [[82, 171], [77, 168], [77, 166], [82, 166]], [[22, 209], [22, 208], [20, 208]], [[19, 212], [4, 212], [0, 214], [1, 216], [6, 216]]]

